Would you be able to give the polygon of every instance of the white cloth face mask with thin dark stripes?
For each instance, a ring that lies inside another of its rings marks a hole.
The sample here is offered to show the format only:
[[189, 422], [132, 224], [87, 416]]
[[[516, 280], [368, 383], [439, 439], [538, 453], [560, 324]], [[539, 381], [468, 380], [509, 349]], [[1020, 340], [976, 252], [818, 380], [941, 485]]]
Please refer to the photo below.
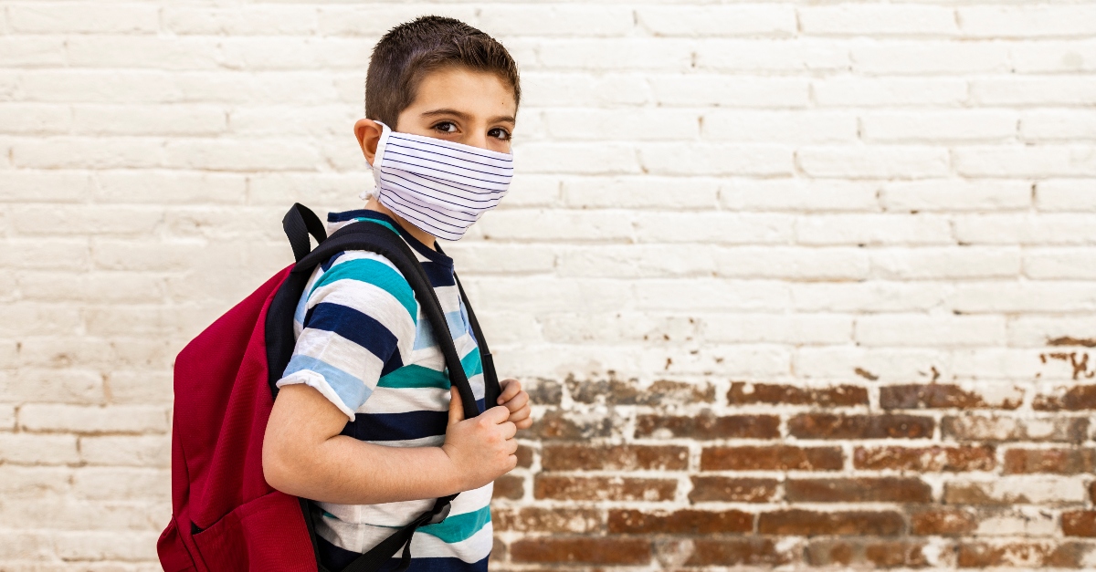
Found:
[[377, 187], [368, 194], [408, 222], [437, 238], [457, 240], [506, 194], [514, 174], [512, 153], [380, 125], [373, 159]]

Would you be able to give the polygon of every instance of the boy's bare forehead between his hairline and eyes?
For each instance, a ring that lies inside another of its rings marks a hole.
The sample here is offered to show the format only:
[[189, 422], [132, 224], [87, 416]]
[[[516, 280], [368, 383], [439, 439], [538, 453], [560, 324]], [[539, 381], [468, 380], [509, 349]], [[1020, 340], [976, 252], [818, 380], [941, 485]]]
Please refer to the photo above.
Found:
[[514, 90], [495, 73], [454, 67], [426, 73], [419, 82], [415, 99], [404, 112], [416, 115], [456, 112], [513, 121], [517, 111]]

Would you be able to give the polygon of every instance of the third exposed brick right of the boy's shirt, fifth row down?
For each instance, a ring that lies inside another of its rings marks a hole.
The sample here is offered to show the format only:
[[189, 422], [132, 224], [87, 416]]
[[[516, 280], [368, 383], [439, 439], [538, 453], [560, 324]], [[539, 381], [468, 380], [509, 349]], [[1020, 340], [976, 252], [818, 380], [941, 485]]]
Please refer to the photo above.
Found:
[[894, 536], [902, 531], [902, 515], [893, 511], [814, 512], [776, 511], [757, 516], [757, 531], [781, 536]]

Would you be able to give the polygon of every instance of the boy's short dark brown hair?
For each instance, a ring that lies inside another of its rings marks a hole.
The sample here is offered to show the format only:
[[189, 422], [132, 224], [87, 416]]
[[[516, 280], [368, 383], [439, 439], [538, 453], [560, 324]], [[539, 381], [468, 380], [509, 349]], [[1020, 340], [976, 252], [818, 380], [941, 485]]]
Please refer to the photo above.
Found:
[[521, 100], [517, 65], [502, 44], [459, 20], [429, 15], [389, 30], [373, 48], [365, 78], [365, 116], [396, 129], [422, 79], [447, 67], [495, 73], [514, 90], [514, 103]]

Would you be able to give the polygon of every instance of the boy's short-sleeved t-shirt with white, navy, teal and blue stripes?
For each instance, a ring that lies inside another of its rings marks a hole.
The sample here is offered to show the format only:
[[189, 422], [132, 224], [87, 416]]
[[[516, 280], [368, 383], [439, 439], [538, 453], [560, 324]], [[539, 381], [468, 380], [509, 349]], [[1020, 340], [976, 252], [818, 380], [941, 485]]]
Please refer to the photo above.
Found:
[[[453, 260], [373, 210], [328, 215], [328, 231], [356, 221], [384, 225], [415, 252], [442, 302], [449, 334], [483, 411], [483, 368]], [[449, 378], [445, 358], [403, 275], [384, 256], [340, 252], [312, 273], [294, 317], [297, 343], [278, 387], [307, 384], [350, 419], [342, 434], [389, 447], [445, 443]], [[449, 516], [415, 531], [412, 571], [483, 571], [491, 551], [492, 485], [466, 491]], [[372, 505], [316, 503], [326, 563], [338, 570], [429, 511], [434, 499]], [[398, 554], [397, 554], [398, 556]]]

